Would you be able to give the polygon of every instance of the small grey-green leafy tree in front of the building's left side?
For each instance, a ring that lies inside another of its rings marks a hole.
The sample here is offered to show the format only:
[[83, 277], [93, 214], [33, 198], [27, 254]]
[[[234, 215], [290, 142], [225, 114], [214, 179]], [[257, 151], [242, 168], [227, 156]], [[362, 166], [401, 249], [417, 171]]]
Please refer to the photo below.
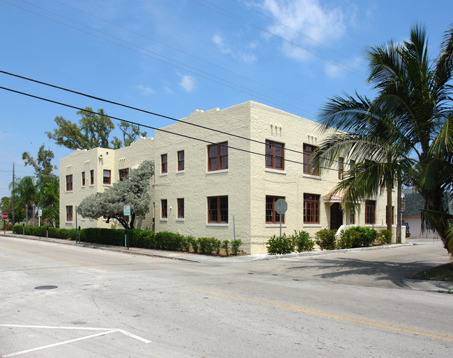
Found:
[[[133, 229], [135, 217], [149, 211], [151, 197], [148, 193], [151, 177], [154, 174], [154, 163], [144, 161], [139, 168], [130, 172], [129, 178], [117, 181], [103, 193], [86, 197], [77, 206], [77, 213], [86, 218], [98, 219], [101, 216], [116, 219], [125, 228]], [[123, 206], [130, 205], [130, 222], [123, 216]]]

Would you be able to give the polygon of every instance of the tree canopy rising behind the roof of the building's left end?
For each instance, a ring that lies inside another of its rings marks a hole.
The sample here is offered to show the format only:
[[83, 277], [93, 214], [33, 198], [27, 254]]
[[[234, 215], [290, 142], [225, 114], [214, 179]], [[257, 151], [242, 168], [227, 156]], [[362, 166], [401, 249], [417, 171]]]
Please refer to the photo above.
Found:
[[77, 111], [77, 115], [81, 117], [79, 124], [60, 116], [55, 117], [54, 131], [45, 132], [49, 139], [73, 150], [97, 147], [118, 149], [130, 145], [139, 136], [146, 136], [146, 132], [140, 131], [139, 125], [122, 121], [118, 127], [123, 139], [114, 136], [111, 140], [110, 135], [115, 129], [115, 124], [102, 108], [96, 113], [92, 108], [85, 107], [84, 110]]

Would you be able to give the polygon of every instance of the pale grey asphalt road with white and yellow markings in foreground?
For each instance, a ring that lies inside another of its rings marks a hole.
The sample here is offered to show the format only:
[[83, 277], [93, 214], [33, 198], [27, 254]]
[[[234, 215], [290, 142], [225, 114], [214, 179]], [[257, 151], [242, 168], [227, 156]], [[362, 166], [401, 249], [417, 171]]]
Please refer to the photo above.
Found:
[[453, 295], [402, 282], [448, 260], [430, 240], [197, 263], [1, 236], [0, 355], [452, 357]]

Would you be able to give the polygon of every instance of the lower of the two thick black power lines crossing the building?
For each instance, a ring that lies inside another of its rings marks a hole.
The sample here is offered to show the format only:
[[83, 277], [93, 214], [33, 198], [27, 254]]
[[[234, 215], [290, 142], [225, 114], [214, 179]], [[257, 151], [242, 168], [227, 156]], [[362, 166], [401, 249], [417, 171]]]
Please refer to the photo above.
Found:
[[[80, 108], [80, 107], [77, 107], [77, 106], [72, 106], [70, 104], [65, 104], [63, 102], [59, 102], [59, 101], [54, 101], [53, 99], [47, 99], [45, 97], [40, 97], [40, 96], [36, 96], [36, 95], [31, 95], [29, 93], [26, 93], [26, 92], [21, 92], [21, 91], [18, 91], [18, 90], [13, 90], [11, 88], [6, 88], [6, 87], [3, 87], [3, 86], [0, 86], [0, 89], [2, 90], [7, 90], [9, 92], [13, 92], [13, 93], [17, 93], [19, 95], [24, 95], [26, 97], [31, 97], [31, 98], [35, 98], [35, 99], [40, 99], [42, 101], [47, 101], [49, 103], [53, 103], [53, 104], [59, 104], [60, 106], [66, 106], [68, 108], [73, 108], [73, 109], [76, 109], [77, 111], [84, 111], [86, 113], [91, 113], [93, 115], [98, 115], [97, 112], [93, 112], [93, 111], [89, 111], [89, 110], [86, 110], [85, 108]], [[155, 114], [155, 115], [158, 115], [158, 114]], [[159, 115], [159, 116], [162, 116], [164, 117], [163, 115]], [[114, 117], [112, 115], [108, 115], [109, 118], [112, 118], [114, 120], [119, 120], [119, 121], [122, 121], [122, 122], [127, 122], [129, 124], [134, 124], [136, 126], [140, 126], [140, 127], [144, 127], [144, 128], [148, 128], [148, 129], [153, 129], [155, 131], [162, 131], [164, 133], [168, 133], [168, 134], [173, 134], [174, 136], [180, 136], [180, 137], [183, 137], [183, 138], [187, 138], [187, 139], [192, 139], [192, 140], [197, 140], [199, 142], [202, 142], [202, 143], [208, 143], [208, 144], [214, 144], [214, 145], [220, 145], [219, 143], [215, 143], [215, 142], [211, 142], [210, 140], [205, 140], [205, 139], [201, 139], [201, 138], [196, 138], [196, 137], [192, 137], [192, 136], [187, 136], [186, 134], [183, 134], [183, 133], [176, 133], [176, 132], [172, 132], [172, 131], [169, 131], [167, 129], [161, 129], [161, 128], [157, 128], [157, 127], [152, 127], [152, 126], [149, 126], [148, 124], [140, 124], [140, 123], [137, 123], [137, 122], [132, 122], [130, 120], [123, 120], [122, 118], [119, 118], [119, 117]], [[227, 133], [228, 135], [231, 135], [229, 133]], [[259, 155], [259, 156], [268, 156], [268, 154], [265, 154], [265, 153], [259, 153], [259, 152], [253, 152], [251, 150], [248, 150], [248, 149], [243, 149], [243, 148], [239, 148], [239, 147], [232, 147], [231, 145], [220, 145], [222, 147], [227, 147], [229, 149], [234, 149], [234, 150], [238, 150], [240, 152], [245, 152], [245, 153], [249, 153], [249, 154], [256, 154], [256, 155]], [[289, 163], [296, 163], [296, 164], [302, 164], [302, 165], [307, 165], [307, 163], [303, 163], [303, 162], [300, 162], [300, 161], [292, 161], [291, 159], [286, 159], [286, 158], [282, 158], [282, 161], [286, 161], [286, 162], [289, 162]], [[334, 170], [336, 172], [338, 172], [339, 170], [336, 170], [336, 169], [332, 169], [332, 168], [325, 168], [325, 167], [319, 167], [321, 169], [326, 169], [326, 170]]]

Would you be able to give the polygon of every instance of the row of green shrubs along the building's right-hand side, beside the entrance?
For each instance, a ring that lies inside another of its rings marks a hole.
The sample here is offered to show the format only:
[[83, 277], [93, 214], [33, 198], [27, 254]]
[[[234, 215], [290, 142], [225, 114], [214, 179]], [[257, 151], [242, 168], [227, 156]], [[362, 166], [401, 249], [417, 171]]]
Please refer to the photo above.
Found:
[[387, 229], [376, 231], [370, 227], [349, 227], [341, 231], [339, 240], [335, 237], [337, 230], [320, 230], [312, 241], [307, 231], [294, 231], [294, 235], [272, 236], [266, 246], [269, 254], [291, 254], [291, 252], [313, 251], [314, 243], [321, 250], [348, 249], [352, 247], [369, 247], [390, 243], [392, 234]]

